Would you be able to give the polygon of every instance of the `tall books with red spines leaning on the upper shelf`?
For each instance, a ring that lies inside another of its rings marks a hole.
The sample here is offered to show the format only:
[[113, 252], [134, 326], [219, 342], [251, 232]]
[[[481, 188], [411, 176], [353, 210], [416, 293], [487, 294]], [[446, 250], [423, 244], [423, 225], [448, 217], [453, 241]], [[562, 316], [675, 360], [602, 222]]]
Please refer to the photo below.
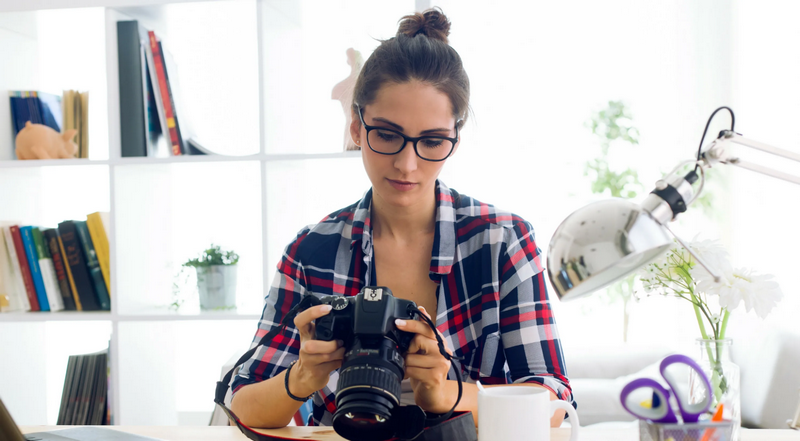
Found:
[[178, 120], [177, 70], [154, 31], [117, 22], [122, 157], [211, 154], [184, 139]]

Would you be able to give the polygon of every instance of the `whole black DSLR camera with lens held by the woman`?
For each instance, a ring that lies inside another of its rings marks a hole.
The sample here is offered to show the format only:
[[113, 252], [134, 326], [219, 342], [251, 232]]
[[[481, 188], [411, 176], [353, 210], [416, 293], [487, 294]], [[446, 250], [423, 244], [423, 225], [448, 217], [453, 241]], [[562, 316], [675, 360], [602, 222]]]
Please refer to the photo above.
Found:
[[383, 286], [364, 287], [353, 297], [326, 296], [320, 301], [333, 309], [316, 320], [315, 338], [342, 340], [345, 348], [334, 430], [353, 441], [383, 440], [422, 424], [424, 413], [419, 407], [400, 406], [405, 375], [402, 354], [414, 334], [397, 329], [394, 323], [395, 319], [414, 320], [417, 305], [394, 297]]

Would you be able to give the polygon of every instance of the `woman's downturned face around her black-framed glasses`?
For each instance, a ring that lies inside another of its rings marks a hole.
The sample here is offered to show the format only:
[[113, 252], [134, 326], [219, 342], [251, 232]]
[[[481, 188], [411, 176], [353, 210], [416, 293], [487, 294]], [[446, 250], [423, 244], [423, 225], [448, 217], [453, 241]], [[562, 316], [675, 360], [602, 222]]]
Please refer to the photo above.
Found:
[[[362, 108], [364, 122], [397, 130], [408, 137], [444, 136], [455, 138], [455, 118], [450, 99], [433, 86], [412, 81], [384, 85], [375, 101]], [[395, 155], [381, 155], [367, 145], [367, 130], [353, 115], [350, 126], [353, 140], [361, 146], [364, 168], [373, 193], [397, 207], [427, 203], [435, 191], [436, 178], [445, 161], [426, 161], [414, 151], [412, 143]], [[419, 148], [421, 149], [422, 141]], [[456, 143], [453, 153], [458, 149]]]

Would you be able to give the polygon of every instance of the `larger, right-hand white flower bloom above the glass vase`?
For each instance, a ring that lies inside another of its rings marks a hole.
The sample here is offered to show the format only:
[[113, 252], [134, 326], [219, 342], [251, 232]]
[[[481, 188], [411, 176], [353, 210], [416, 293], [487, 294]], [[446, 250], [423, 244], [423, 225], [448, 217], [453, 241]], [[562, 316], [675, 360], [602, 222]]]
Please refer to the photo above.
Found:
[[770, 274], [753, 274], [746, 268], [733, 269], [728, 266], [718, 270], [722, 272], [722, 280], [714, 282], [714, 278], [701, 267], [692, 268], [692, 278], [697, 282], [697, 291], [719, 296], [719, 304], [728, 311], [733, 311], [744, 301], [747, 312], [755, 310], [762, 319], [783, 297], [777, 282], [772, 281]]

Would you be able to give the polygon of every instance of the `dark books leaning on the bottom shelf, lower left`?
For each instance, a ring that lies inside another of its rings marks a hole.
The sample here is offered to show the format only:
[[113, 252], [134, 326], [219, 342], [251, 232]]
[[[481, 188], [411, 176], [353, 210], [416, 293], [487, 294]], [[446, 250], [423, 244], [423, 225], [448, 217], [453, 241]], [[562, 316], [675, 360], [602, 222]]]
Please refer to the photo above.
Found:
[[70, 355], [56, 424], [110, 424], [108, 351]]

